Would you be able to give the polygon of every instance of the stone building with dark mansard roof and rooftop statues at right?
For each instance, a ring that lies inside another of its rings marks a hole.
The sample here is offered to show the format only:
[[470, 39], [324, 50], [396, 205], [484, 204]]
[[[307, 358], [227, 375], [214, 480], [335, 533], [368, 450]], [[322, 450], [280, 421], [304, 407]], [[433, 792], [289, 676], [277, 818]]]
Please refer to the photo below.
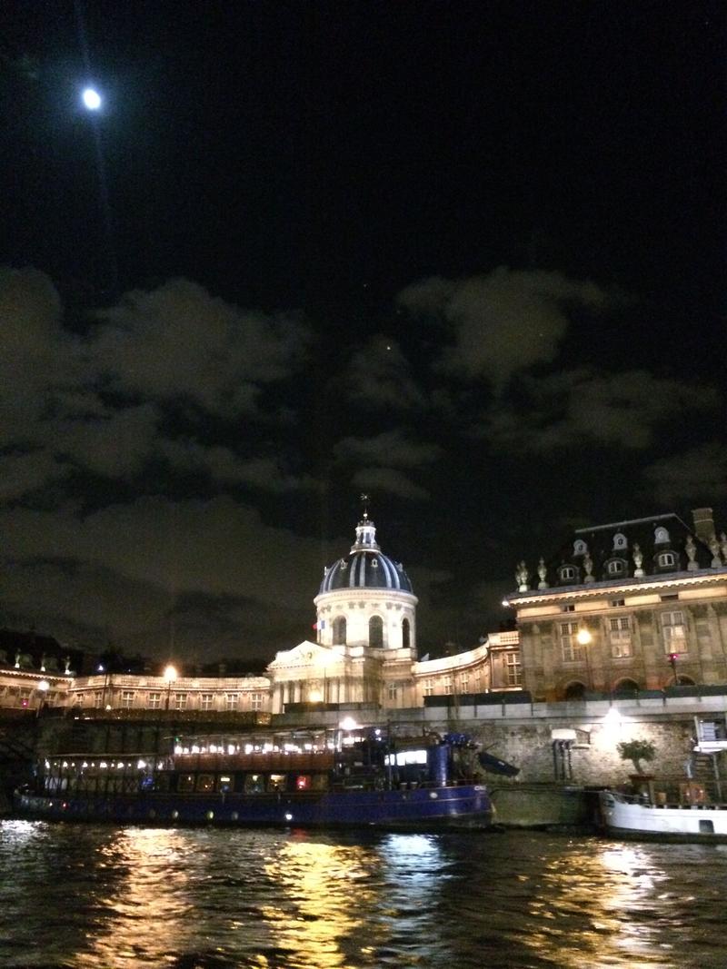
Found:
[[522, 686], [559, 701], [727, 683], [727, 536], [712, 511], [583, 528], [518, 566]]

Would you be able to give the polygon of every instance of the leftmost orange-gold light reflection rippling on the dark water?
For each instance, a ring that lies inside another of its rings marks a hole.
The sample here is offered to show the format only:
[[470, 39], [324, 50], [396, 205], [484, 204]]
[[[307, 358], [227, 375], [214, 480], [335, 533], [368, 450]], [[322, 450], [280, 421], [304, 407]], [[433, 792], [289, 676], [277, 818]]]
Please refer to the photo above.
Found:
[[99, 900], [74, 966], [114, 969], [137, 959], [161, 966], [170, 950], [184, 948], [195, 924], [186, 891], [188, 847], [182, 832], [164, 828], [123, 828], [99, 847], [95, 863], [111, 867], [113, 892]]

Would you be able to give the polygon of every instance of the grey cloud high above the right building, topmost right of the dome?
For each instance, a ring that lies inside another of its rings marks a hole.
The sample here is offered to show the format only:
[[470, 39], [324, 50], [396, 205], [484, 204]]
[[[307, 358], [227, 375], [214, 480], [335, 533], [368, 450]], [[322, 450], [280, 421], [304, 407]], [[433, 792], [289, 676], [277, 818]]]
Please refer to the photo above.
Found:
[[608, 302], [594, 283], [505, 266], [467, 279], [435, 276], [397, 298], [415, 315], [448, 325], [454, 342], [444, 351], [443, 369], [470, 380], [484, 377], [495, 391], [518, 371], [555, 359], [570, 310], [601, 310]]

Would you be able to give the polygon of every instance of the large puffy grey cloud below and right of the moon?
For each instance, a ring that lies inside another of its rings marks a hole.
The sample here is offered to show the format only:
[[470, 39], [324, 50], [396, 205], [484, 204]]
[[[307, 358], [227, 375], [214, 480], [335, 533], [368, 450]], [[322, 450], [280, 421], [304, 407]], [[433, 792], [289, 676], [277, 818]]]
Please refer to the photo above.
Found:
[[112, 390], [188, 399], [227, 417], [255, 411], [261, 389], [300, 366], [309, 340], [300, 321], [243, 311], [186, 279], [134, 290], [97, 319], [89, 354]]

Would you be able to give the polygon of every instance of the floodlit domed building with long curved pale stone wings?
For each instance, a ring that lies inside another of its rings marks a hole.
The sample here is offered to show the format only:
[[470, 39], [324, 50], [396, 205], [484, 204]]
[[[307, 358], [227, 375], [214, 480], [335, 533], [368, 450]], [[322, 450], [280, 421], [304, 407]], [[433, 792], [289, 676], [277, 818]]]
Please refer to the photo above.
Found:
[[[326, 568], [316, 606], [316, 641], [278, 652], [260, 675], [187, 676], [112, 672], [53, 677], [47, 701], [81, 709], [179, 710], [209, 714], [282, 713], [300, 704], [422, 706], [427, 697], [520, 690], [516, 632], [493, 633], [479, 645], [439, 659], [418, 659], [417, 604], [400, 562], [385, 555], [364, 514], [349, 554]], [[0, 667], [3, 666], [0, 657]], [[0, 669], [0, 706], [16, 705], [18, 671]], [[5, 673], [8, 672], [8, 675]], [[30, 673], [30, 667], [28, 668]], [[23, 704], [43, 695], [35, 670]], [[46, 687], [46, 689], [48, 689]]]

